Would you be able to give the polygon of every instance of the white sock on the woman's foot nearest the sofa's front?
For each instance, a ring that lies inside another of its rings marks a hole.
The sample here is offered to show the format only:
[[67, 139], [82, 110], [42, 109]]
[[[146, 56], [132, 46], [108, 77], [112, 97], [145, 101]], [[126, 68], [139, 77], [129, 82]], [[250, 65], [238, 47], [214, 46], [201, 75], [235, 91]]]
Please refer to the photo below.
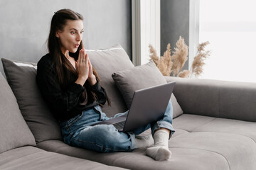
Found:
[[169, 133], [166, 130], [157, 130], [154, 133], [154, 147], [146, 149], [146, 155], [156, 161], [165, 161], [171, 158], [168, 147]]

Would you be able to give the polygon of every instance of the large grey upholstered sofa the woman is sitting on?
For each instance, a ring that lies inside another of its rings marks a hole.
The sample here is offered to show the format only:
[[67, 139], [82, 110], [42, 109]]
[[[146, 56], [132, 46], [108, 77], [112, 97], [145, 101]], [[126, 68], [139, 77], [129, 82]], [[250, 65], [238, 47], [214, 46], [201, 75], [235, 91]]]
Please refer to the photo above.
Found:
[[[102, 110], [109, 116], [126, 111], [122, 90], [117, 88], [111, 76], [113, 72], [134, 68], [126, 52], [120, 45], [114, 45], [102, 50], [87, 50], [87, 53], [112, 100], [112, 107], [105, 106]], [[1, 128], [11, 129], [1, 134], [0, 141], [2, 143], [3, 137], [6, 137], [4, 142], [14, 144], [19, 137], [26, 141], [4, 151], [1, 149], [0, 169], [9, 166], [15, 169], [16, 164], [24, 164], [23, 169], [31, 166], [62, 169], [65, 164], [77, 169], [256, 169], [254, 83], [164, 77], [166, 81], [176, 81], [172, 98], [176, 132], [169, 140], [171, 159], [156, 162], [146, 157], [145, 149], [102, 154], [66, 145], [57, 121], [37, 89], [36, 64], [6, 59], [2, 62], [16, 98], [1, 77], [1, 86], [6, 86], [9, 96], [6, 89], [1, 89], [1, 102], [4, 102], [1, 107], [5, 107], [1, 117], [6, 119], [1, 119], [0, 123]], [[9, 108], [13, 106], [16, 117], [9, 118]], [[23, 122], [23, 128], [18, 128], [14, 120]], [[147, 133], [150, 130], [142, 135]]]

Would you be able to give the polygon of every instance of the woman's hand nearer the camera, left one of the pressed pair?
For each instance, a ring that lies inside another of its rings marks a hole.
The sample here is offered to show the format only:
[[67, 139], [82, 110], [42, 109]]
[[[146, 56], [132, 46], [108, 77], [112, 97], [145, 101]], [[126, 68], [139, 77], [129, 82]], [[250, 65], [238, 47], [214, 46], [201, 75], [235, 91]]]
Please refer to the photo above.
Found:
[[75, 69], [78, 72], [78, 79], [75, 81], [75, 83], [80, 84], [83, 86], [85, 84], [85, 81], [89, 77], [89, 57], [87, 57], [87, 54], [85, 53], [85, 49], [80, 50], [78, 55], [78, 61], [75, 62]]

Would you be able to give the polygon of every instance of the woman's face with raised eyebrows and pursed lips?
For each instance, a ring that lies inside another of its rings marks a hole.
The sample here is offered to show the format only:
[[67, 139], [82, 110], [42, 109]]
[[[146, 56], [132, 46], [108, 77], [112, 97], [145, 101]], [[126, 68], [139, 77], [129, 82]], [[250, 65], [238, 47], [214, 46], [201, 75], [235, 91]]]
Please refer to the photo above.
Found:
[[63, 55], [68, 55], [68, 52], [75, 53], [78, 50], [82, 40], [82, 32], [82, 20], [68, 20], [63, 30], [56, 32], [56, 37], [60, 38], [60, 49]]

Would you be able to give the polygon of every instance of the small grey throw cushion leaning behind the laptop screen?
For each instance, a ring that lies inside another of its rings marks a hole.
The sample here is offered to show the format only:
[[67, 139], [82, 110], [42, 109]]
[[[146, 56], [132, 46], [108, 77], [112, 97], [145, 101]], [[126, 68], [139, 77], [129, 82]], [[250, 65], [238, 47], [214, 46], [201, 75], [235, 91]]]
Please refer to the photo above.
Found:
[[[121, 91], [127, 108], [131, 106], [134, 91], [159, 84], [166, 84], [166, 79], [154, 62], [115, 72], [112, 74], [112, 78], [119, 91]], [[183, 111], [178, 105], [174, 94], [171, 95], [171, 102], [174, 108], [174, 118], [176, 118], [178, 115], [181, 115]]]

